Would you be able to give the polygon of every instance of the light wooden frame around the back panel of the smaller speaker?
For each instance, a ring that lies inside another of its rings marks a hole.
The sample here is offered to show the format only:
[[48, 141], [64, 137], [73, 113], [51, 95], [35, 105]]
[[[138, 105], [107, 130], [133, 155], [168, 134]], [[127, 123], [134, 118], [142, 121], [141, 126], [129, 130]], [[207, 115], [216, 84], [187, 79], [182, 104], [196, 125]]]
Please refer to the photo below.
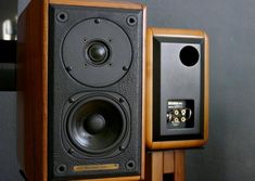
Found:
[[[204, 57], [204, 138], [197, 140], [181, 140], [181, 141], [153, 141], [153, 37], [171, 37], [171, 38], [194, 38], [204, 39], [205, 57]], [[202, 30], [193, 29], [173, 29], [173, 28], [155, 28], [150, 27], [146, 31], [146, 147], [150, 150], [166, 150], [166, 148], [184, 148], [196, 147], [204, 145], [208, 140], [208, 96], [209, 96], [209, 48], [208, 36]]]

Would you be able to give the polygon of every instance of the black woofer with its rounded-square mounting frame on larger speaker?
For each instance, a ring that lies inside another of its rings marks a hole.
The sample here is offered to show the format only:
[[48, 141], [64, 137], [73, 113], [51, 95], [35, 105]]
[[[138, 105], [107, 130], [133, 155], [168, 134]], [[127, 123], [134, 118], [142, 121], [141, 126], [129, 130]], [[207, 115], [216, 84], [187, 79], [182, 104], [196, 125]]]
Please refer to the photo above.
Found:
[[116, 93], [81, 93], [64, 106], [63, 143], [76, 157], [112, 157], [129, 143], [130, 111]]

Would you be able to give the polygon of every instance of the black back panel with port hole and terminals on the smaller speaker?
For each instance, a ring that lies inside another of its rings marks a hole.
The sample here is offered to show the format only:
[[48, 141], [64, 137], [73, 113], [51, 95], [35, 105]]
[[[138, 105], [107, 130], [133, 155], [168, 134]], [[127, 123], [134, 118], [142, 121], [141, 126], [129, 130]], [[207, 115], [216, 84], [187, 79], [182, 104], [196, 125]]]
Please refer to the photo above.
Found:
[[[203, 39], [153, 38], [153, 60], [161, 60], [153, 64], [153, 119], [160, 120], [153, 122], [154, 141], [203, 138]], [[189, 47], [194, 51], [183, 52]], [[184, 55], [190, 64], [182, 63]]]

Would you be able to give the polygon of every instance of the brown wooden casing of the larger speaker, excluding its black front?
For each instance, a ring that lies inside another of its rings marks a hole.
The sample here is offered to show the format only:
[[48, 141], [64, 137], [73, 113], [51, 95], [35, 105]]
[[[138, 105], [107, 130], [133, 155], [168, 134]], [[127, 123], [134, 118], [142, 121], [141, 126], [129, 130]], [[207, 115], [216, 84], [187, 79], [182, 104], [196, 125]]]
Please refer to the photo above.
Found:
[[[28, 181], [48, 180], [48, 8], [49, 3], [99, 8], [143, 10], [143, 35], [146, 29], [146, 9], [142, 4], [94, 2], [84, 0], [31, 0], [18, 18], [17, 89], [21, 115], [18, 155]], [[145, 38], [143, 37], [143, 46]], [[143, 48], [143, 66], [145, 66]], [[144, 86], [144, 85], [143, 85]], [[144, 95], [144, 94], [143, 94]], [[143, 99], [144, 100], [144, 99]], [[144, 106], [144, 105], [143, 105]], [[143, 113], [144, 115], [144, 107]], [[144, 128], [144, 117], [142, 119]], [[144, 178], [145, 131], [142, 129], [141, 176], [93, 179], [93, 181], [133, 181]], [[88, 180], [90, 181], [90, 180]], [[91, 180], [92, 181], [92, 180]]]

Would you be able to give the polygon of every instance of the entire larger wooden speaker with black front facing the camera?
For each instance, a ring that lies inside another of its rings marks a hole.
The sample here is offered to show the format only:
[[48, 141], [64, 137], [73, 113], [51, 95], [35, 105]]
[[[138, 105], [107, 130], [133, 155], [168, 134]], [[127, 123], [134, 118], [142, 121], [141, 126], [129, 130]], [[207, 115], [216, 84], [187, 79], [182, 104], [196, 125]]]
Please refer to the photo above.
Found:
[[143, 179], [145, 15], [129, 2], [29, 1], [17, 50], [28, 181]]

